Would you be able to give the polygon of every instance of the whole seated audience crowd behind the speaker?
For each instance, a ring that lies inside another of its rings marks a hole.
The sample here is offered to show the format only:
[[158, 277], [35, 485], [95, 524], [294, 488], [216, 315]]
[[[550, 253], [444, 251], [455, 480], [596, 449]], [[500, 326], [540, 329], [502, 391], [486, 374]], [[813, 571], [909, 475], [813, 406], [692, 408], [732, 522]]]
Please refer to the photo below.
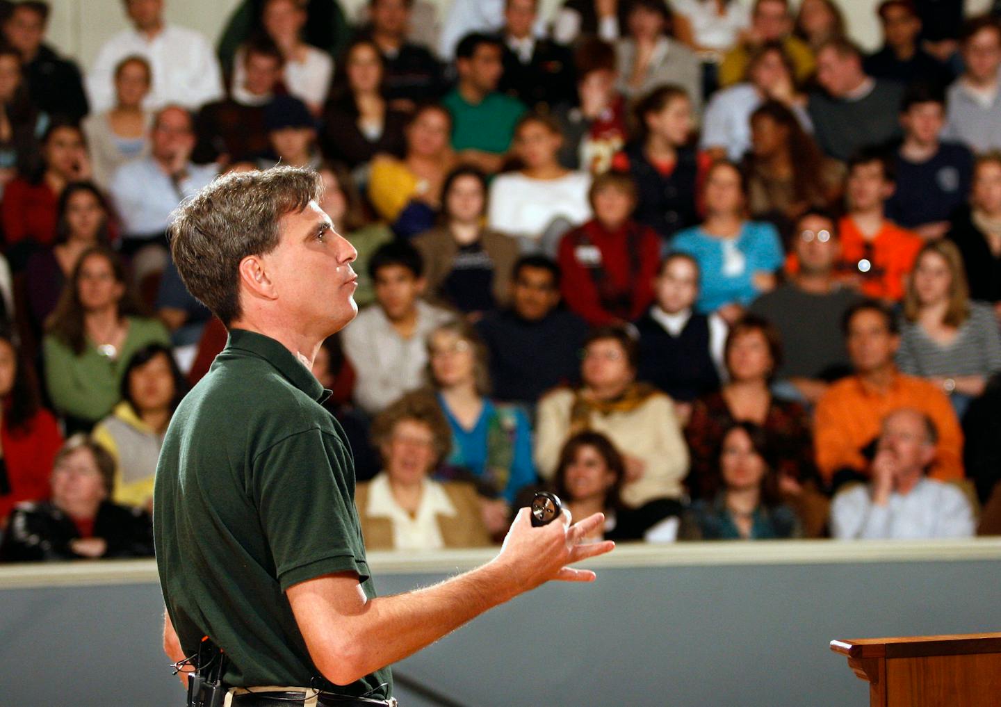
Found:
[[170, 2], [86, 72], [0, 2], [0, 561], [151, 554], [227, 343], [171, 214], [276, 164], [357, 251], [312, 373], [369, 548], [539, 490], [593, 540], [1001, 534], [1001, 10], [884, 0], [867, 53], [838, 0], [246, 0], [213, 49]]

